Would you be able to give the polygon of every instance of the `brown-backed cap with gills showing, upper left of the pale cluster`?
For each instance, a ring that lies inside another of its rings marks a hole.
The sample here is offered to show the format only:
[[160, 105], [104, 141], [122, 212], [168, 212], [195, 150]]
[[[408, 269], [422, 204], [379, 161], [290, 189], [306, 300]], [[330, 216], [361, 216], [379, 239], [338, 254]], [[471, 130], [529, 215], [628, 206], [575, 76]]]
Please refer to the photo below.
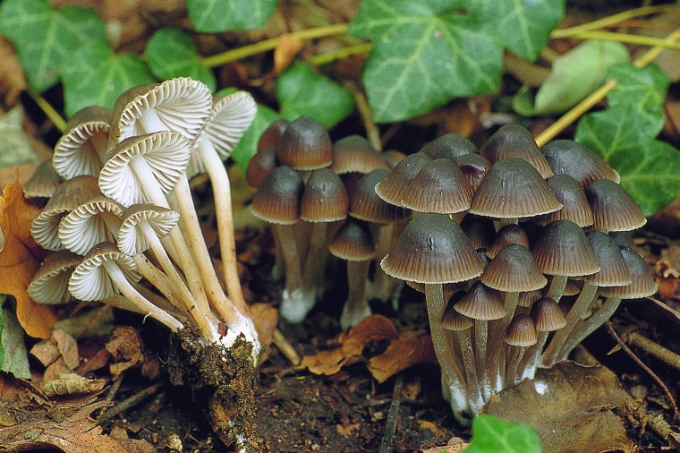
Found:
[[78, 175], [97, 177], [106, 161], [113, 112], [106, 107], [85, 107], [72, 115], [52, 155], [55, 172], [64, 179]]

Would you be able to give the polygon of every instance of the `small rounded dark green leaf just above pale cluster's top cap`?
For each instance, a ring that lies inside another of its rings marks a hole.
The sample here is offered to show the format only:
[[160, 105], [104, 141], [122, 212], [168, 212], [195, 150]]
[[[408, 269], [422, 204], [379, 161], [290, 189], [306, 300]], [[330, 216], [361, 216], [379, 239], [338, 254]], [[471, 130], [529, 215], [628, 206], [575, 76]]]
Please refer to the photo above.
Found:
[[208, 85], [211, 91], [216, 90], [215, 74], [200, 64], [196, 44], [183, 30], [169, 27], [157, 30], [149, 39], [144, 56], [151, 73], [159, 80], [191, 77]]

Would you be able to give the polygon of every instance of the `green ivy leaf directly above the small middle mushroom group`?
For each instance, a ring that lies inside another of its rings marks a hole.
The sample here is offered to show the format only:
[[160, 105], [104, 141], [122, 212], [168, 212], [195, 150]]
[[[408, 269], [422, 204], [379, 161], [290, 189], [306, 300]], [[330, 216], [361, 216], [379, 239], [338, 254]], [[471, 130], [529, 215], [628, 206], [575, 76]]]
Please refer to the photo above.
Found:
[[278, 76], [276, 98], [285, 118], [309, 115], [327, 129], [344, 120], [354, 108], [354, 98], [347, 90], [301, 62]]

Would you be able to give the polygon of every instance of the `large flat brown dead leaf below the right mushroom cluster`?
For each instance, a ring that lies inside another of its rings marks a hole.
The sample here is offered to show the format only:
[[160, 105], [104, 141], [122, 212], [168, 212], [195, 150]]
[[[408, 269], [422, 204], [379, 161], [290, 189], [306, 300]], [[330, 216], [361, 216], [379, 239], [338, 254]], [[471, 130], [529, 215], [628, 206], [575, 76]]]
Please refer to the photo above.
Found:
[[551, 453], [632, 452], [633, 441], [610, 410], [632, 401], [607, 368], [559, 362], [493, 395], [481, 412], [529, 424]]

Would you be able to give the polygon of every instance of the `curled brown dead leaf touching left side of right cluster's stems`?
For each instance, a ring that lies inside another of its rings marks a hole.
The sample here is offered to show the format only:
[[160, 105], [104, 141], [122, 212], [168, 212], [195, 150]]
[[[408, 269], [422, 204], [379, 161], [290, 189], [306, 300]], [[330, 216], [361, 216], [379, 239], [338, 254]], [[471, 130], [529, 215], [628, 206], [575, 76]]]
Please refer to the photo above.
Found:
[[417, 363], [436, 362], [432, 338], [405, 331], [393, 340], [384, 353], [371, 357], [369, 371], [379, 383]]

